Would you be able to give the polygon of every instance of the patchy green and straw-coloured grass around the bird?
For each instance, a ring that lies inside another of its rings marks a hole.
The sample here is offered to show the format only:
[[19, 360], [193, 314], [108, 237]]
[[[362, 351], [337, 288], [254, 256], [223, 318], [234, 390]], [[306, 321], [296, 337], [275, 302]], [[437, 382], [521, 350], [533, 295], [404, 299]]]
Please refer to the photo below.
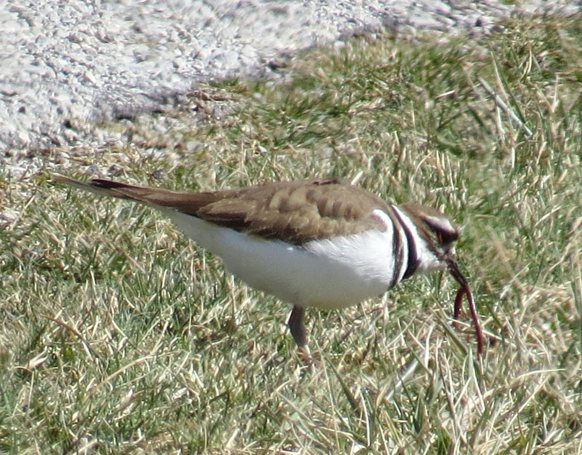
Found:
[[306, 368], [289, 305], [158, 214], [1, 170], [0, 453], [582, 452], [580, 24], [311, 51], [165, 131], [101, 126], [131, 144], [23, 158], [177, 189], [338, 176], [441, 208], [482, 358], [437, 274], [308, 311]]

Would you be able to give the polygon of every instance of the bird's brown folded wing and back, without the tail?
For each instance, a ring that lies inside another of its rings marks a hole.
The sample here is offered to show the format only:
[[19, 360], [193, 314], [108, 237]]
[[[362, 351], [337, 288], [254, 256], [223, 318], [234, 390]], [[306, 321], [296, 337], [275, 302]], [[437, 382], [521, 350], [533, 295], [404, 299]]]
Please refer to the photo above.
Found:
[[268, 183], [237, 190], [196, 212], [206, 221], [292, 244], [386, 227], [372, 212], [389, 209], [368, 191], [336, 180]]

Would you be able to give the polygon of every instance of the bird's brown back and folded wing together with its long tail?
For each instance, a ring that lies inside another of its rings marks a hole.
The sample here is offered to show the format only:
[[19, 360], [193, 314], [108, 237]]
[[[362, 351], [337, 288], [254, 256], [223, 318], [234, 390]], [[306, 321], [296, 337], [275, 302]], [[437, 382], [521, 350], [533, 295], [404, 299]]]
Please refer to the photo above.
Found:
[[55, 176], [56, 181], [94, 193], [153, 207], [174, 208], [219, 226], [292, 244], [386, 227], [372, 212], [386, 203], [338, 180], [274, 182], [237, 190], [181, 193], [95, 179], [88, 183]]

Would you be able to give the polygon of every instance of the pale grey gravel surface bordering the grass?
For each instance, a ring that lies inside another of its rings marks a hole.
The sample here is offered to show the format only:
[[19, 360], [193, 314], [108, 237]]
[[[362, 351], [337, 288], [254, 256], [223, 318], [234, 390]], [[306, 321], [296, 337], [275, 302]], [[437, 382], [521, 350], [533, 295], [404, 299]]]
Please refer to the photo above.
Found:
[[[573, 14], [580, 1], [531, 1]], [[485, 33], [494, 0], [20, 0], [0, 2], [0, 157], [107, 143], [95, 122], [180, 102], [197, 83], [271, 77], [299, 49], [354, 33]]]

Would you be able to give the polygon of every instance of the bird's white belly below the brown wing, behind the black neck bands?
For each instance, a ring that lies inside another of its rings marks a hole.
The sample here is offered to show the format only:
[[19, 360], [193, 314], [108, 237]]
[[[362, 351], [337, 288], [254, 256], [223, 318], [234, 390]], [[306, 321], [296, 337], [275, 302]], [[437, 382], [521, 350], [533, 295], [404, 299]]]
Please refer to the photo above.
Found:
[[[292, 246], [166, 211], [182, 232], [249, 286], [297, 305], [341, 308], [386, 292], [393, 282], [392, 229]], [[401, 278], [401, 277], [399, 277]]]

